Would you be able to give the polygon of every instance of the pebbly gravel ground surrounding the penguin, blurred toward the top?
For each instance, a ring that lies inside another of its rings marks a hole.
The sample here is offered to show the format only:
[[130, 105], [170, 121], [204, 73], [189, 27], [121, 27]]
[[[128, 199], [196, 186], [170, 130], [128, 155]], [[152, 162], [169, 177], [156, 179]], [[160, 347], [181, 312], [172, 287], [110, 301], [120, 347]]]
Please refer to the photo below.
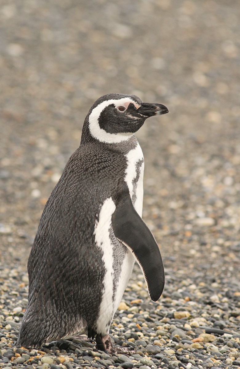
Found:
[[[240, 367], [239, 19], [237, 0], [1, 1], [0, 368]], [[164, 293], [152, 303], [134, 267], [111, 326], [132, 356], [78, 339], [16, 349], [44, 204], [112, 92], [171, 112], [137, 135]]]

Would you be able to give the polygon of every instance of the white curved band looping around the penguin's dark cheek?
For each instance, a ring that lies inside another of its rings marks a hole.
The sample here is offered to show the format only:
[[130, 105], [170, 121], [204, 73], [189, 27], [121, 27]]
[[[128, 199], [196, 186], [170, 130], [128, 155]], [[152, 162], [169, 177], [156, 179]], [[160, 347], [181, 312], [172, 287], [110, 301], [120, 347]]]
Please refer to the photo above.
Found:
[[[133, 136], [133, 133], [127, 132], [127, 133], [109, 133], [104, 131], [99, 126], [99, 117], [102, 113], [103, 109], [109, 106], [110, 104], [114, 104], [115, 107], [121, 106], [126, 103], [133, 103], [134, 106], [138, 109], [140, 107], [140, 104], [138, 104], [136, 101], [131, 99], [131, 97], [123, 97], [122, 99], [118, 100], [106, 100], [100, 103], [92, 110], [92, 112], [89, 115], [88, 121], [89, 121], [89, 130], [91, 135], [98, 139], [101, 142], [107, 142], [109, 144], [117, 144], [121, 141], [127, 141], [131, 136]], [[129, 105], [128, 104], [128, 105]], [[124, 105], [125, 106], [125, 105]]]

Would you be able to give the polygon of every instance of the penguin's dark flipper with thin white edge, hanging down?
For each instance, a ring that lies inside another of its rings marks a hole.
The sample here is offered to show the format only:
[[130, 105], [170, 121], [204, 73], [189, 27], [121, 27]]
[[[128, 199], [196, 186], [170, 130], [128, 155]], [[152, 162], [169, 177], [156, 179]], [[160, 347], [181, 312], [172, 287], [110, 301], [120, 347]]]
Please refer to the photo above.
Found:
[[116, 206], [112, 215], [114, 235], [136, 258], [147, 283], [152, 301], [157, 301], [164, 288], [164, 266], [152, 232], [133, 207], [130, 197]]

